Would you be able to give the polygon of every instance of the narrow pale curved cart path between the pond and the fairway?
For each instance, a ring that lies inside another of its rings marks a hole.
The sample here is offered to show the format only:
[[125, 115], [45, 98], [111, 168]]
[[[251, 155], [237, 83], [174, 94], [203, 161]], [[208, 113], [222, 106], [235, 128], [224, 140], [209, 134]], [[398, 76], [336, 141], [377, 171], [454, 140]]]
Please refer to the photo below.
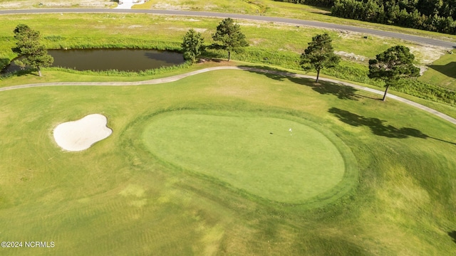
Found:
[[[314, 79], [311, 75], [300, 75], [296, 73], [288, 73], [288, 72], [281, 72], [276, 70], [264, 70], [260, 68], [249, 68], [249, 67], [233, 67], [233, 66], [222, 66], [222, 67], [214, 67], [214, 68], [203, 68], [201, 70], [192, 71], [189, 73], [181, 74], [181, 75], [173, 75], [167, 78], [157, 78], [152, 80], [144, 80], [144, 81], [137, 81], [137, 82], [43, 82], [43, 83], [36, 83], [36, 84], [28, 84], [28, 85], [14, 85], [10, 87], [1, 87], [0, 92], [6, 90], [16, 90], [16, 89], [23, 89], [23, 88], [31, 88], [31, 87], [47, 87], [47, 86], [78, 86], [78, 85], [89, 85], [89, 86], [130, 86], [130, 85], [156, 85], [165, 82], [174, 82], [177, 80], [181, 80], [182, 78], [187, 78], [191, 75], [197, 75], [200, 73], [205, 73], [213, 70], [247, 70], [259, 73], [269, 73], [274, 75], [283, 75], [286, 77], [291, 78], [311, 78]], [[341, 82], [338, 80], [330, 79], [330, 78], [320, 78], [320, 80], [327, 81], [327, 82], [334, 82], [339, 85], [346, 85], [358, 90], [364, 90], [368, 92], [373, 92], [378, 95], [383, 95], [383, 91], [375, 90], [369, 87], [363, 87], [361, 85], [353, 85], [350, 82]], [[453, 117], [448, 116], [447, 114], [443, 114], [442, 112], [438, 112], [437, 110], [432, 110], [430, 107], [426, 107], [424, 105], [418, 104], [411, 100], [404, 99], [403, 97], [398, 97], [396, 95], [392, 95], [388, 93], [387, 95], [389, 98], [398, 100], [400, 102], [404, 102], [405, 104], [412, 105], [413, 107], [418, 107], [420, 110], [424, 110], [426, 112], [430, 112], [431, 114], [435, 114], [437, 117], [447, 120], [452, 124], [456, 124], [456, 119]]]

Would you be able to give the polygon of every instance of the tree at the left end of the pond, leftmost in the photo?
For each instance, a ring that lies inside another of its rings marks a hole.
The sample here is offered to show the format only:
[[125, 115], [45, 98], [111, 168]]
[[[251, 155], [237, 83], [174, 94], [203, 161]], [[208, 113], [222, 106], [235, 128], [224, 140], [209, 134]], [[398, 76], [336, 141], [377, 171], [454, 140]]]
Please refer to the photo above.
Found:
[[48, 54], [46, 48], [39, 44], [39, 38], [40, 33], [38, 31], [34, 31], [25, 24], [19, 24], [14, 29], [16, 47], [11, 48], [11, 50], [24, 57], [16, 63], [21, 66], [30, 65], [36, 68], [38, 75], [41, 76], [41, 67], [52, 65], [54, 59]]

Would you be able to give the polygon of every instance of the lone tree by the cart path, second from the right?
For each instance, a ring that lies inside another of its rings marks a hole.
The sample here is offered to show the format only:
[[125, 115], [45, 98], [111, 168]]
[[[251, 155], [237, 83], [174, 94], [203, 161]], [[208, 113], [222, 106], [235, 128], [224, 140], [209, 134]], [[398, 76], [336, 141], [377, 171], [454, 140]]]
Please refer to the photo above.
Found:
[[304, 70], [310, 70], [311, 68], [316, 70], [316, 82], [318, 82], [322, 68], [333, 68], [341, 60], [334, 53], [331, 41], [328, 33], [316, 35], [312, 38], [304, 53], [301, 54], [301, 62], [299, 64]]

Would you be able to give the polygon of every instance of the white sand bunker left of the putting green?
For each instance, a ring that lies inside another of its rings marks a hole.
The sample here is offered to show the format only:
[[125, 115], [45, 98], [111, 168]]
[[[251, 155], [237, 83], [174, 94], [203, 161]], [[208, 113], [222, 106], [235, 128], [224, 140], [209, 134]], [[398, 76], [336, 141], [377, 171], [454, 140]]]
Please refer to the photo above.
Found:
[[89, 114], [79, 120], [58, 124], [53, 131], [58, 146], [68, 151], [88, 149], [95, 142], [107, 138], [113, 130], [106, 127], [103, 114]]

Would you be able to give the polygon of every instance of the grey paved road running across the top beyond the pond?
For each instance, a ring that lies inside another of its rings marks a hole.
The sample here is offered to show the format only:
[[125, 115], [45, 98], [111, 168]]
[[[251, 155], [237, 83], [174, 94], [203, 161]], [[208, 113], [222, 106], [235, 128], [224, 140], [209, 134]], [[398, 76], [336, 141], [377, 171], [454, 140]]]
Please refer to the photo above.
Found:
[[224, 14], [207, 11], [170, 11], [170, 10], [140, 10], [140, 9], [19, 9], [19, 10], [0, 10], [0, 14], [43, 14], [43, 13], [131, 13], [131, 14], [167, 14], [177, 16], [207, 16], [218, 18], [242, 18], [253, 21], [268, 21], [268, 22], [281, 22], [290, 23], [296, 26], [313, 26], [318, 28], [331, 28], [341, 31], [353, 31], [363, 34], [370, 34], [376, 36], [386, 36], [391, 38], [400, 38], [406, 41], [413, 41], [417, 43], [424, 43], [431, 46], [440, 46], [445, 48], [456, 48], [456, 43], [441, 41], [433, 38], [424, 38], [420, 36], [411, 36], [402, 33], [394, 33], [388, 31], [379, 31], [370, 28], [358, 28], [356, 26], [345, 26], [333, 23], [325, 23], [319, 21], [302, 21], [293, 18], [279, 18], [268, 16], [255, 16], [245, 14]]

